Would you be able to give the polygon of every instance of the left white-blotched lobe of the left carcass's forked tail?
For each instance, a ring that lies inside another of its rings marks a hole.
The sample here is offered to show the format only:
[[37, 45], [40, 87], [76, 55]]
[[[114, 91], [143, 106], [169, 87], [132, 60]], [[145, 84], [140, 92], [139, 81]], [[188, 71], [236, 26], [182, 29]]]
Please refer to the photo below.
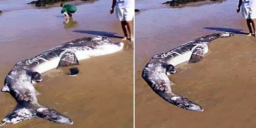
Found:
[[3, 120], [3, 123], [16, 124], [25, 119], [36, 118], [36, 112], [30, 107], [17, 105]]

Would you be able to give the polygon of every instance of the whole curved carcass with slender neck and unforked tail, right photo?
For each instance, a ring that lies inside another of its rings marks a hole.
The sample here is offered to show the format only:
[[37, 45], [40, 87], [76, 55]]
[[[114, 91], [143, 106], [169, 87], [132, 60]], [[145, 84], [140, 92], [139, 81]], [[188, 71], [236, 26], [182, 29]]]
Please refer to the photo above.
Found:
[[[212, 40], [231, 37], [233, 35], [233, 33], [227, 32], [207, 35], [187, 42], [168, 52], [155, 55], [149, 60], [142, 70], [142, 78], [149, 84], [150, 88], [153, 89], [154, 92], [167, 102], [183, 109], [203, 111], [203, 108], [200, 105], [183, 96], [174, 94], [171, 91], [171, 85], [174, 84], [168, 76], [176, 72], [175, 65], [188, 60], [190, 62], [197, 62], [201, 60], [203, 58], [203, 54], [208, 51], [207, 45]], [[205, 51], [206, 49], [207, 51]]]

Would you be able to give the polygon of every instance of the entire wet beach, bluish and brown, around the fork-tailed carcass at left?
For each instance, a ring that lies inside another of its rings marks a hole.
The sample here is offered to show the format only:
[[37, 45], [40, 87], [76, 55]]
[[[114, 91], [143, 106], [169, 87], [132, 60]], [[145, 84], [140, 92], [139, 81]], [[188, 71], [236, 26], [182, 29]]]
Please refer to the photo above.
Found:
[[[0, 83], [15, 63], [41, 54], [64, 42], [85, 36], [106, 36], [121, 41], [122, 30], [115, 15], [108, 14], [111, 0], [77, 6], [70, 24], [64, 23], [61, 8], [22, 9], [0, 16]], [[29, 14], [24, 17], [24, 14]], [[71, 126], [37, 118], [3, 128], [132, 128], [133, 127], [133, 43], [124, 41], [122, 51], [85, 59], [80, 74], [68, 77], [68, 68], [43, 73], [35, 88], [39, 103], [72, 118]], [[0, 117], [16, 102], [0, 93]]]

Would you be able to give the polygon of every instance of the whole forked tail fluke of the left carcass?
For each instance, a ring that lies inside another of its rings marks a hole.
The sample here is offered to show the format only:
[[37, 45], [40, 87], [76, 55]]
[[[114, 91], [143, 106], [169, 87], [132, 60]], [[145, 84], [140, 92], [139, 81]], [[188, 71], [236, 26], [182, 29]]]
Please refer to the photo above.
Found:
[[18, 103], [16, 108], [14, 108], [3, 120], [5, 123], [13, 123], [16, 124], [25, 119], [31, 118], [44, 118], [49, 121], [53, 121], [55, 123], [60, 124], [69, 124], [72, 125], [73, 122], [70, 118], [60, 114], [59, 112], [53, 110], [52, 108], [48, 108], [42, 105], [32, 105], [26, 104], [21, 105]]

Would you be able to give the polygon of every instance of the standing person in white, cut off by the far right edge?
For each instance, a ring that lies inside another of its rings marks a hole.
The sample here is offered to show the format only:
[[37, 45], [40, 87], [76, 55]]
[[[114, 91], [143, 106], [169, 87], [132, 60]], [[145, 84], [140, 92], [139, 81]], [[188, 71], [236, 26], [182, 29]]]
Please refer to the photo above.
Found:
[[256, 0], [239, 0], [236, 8], [237, 13], [242, 8], [243, 16], [249, 30], [247, 36], [254, 36], [256, 32]]

